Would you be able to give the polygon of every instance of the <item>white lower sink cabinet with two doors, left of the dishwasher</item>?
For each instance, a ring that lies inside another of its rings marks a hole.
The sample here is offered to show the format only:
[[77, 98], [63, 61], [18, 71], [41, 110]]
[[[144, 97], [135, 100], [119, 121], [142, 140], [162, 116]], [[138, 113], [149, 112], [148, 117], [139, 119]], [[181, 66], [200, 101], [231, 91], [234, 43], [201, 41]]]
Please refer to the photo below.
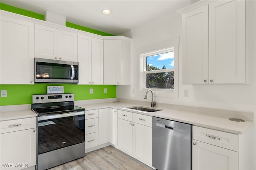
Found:
[[117, 132], [118, 149], [152, 166], [152, 117], [118, 110]]

